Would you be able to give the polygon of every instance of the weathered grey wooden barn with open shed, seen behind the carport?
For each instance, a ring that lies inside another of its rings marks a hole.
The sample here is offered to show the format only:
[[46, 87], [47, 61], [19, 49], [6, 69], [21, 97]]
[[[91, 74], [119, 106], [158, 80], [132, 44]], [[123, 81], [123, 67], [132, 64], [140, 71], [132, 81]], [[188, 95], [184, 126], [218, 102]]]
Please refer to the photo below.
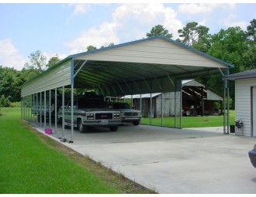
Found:
[[[161, 100], [163, 97], [163, 107]], [[126, 95], [125, 98], [133, 98], [133, 107], [140, 110], [140, 94]], [[180, 92], [152, 93], [151, 117], [171, 117], [180, 114]], [[195, 80], [182, 81], [182, 111], [183, 115], [209, 115], [219, 114], [215, 104], [219, 103], [222, 109], [223, 97], [210, 90], [208, 87]], [[141, 94], [142, 115], [150, 117], [150, 93]]]

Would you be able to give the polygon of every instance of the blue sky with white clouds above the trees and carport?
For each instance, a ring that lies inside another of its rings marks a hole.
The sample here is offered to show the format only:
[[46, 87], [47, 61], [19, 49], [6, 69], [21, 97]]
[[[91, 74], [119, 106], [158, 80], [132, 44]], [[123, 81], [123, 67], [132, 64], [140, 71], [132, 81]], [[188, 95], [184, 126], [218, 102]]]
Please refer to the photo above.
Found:
[[0, 66], [16, 70], [22, 70], [36, 50], [47, 60], [56, 54], [64, 59], [90, 45], [99, 48], [146, 38], [154, 25], [163, 25], [177, 39], [178, 29], [187, 22], [205, 25], [213, 34], [236, 25], [246, 31], [256, 19], [256, 3], [249, 2], [10, 2], [0, 0]]

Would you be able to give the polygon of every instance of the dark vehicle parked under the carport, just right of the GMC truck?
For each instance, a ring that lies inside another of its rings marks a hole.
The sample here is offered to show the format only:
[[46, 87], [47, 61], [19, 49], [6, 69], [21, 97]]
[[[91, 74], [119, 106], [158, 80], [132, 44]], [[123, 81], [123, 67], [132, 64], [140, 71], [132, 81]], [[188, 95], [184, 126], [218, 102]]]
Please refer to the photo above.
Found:
[[108, 107], [113, 110], [119, 110], [122, 122], [130, 122], [134, 125], [140, 124], [141, 111], [134, 110], [129, 104], [121, 102], [110, 102]]

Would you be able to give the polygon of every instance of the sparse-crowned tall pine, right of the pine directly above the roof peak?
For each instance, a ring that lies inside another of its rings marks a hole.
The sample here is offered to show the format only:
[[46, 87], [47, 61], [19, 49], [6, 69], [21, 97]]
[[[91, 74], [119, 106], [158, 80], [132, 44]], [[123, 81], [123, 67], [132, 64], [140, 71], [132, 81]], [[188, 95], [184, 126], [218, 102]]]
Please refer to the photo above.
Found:
[[178, 29], [179, 37], [182, 38], [178, 41], [187, 46], [193, 46], [196, 42], [209, 45], [209, 42], [206, 42], [209, 39], [208, 32], [208, 27], [198, 25], [198, 22], [188, 22], [183, 29]]

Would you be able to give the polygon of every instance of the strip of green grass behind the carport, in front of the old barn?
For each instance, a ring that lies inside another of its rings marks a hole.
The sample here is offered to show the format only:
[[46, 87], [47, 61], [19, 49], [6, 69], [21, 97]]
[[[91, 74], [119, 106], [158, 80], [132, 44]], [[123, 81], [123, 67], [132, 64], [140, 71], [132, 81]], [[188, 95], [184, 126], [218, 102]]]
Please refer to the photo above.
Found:
[[[230, 110], [230, 124], [234, 125], [235, 112]], [[142, 124], [150, 124], [150, 118], [144, 117]], [[152, 118], [152, 125], [161, 126], [161, 118]], [[165, 127], [175, 127], [175, 117], [164, 117], [163, 125]], [[182, 117], [182, 128], [189, 127], [222, 127], [223, 116], [204, 116], [204, 117]], [[176, 119], [176, 127], [180, 127], [180, 118]]]

